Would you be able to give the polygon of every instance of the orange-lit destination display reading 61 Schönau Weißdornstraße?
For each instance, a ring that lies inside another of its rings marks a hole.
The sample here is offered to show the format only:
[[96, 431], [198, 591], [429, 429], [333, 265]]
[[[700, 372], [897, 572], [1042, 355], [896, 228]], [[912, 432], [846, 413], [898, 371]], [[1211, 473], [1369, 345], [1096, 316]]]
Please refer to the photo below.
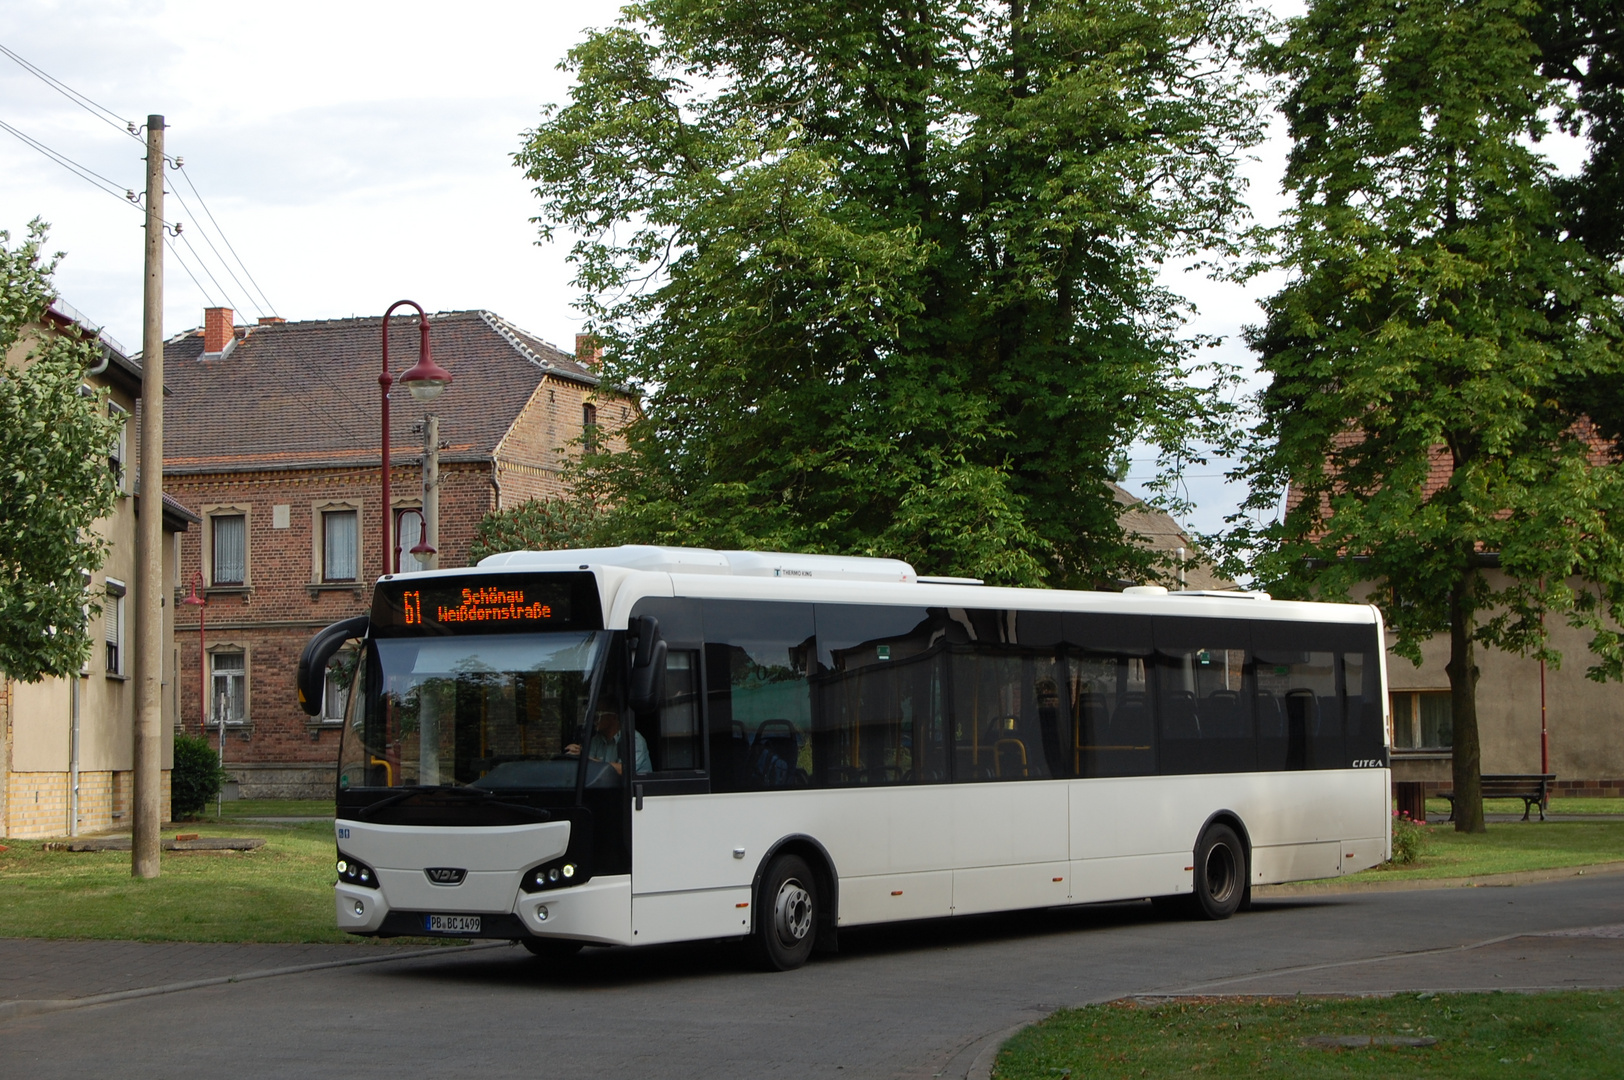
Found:
[[372, 622], [398, 633], [598, 629], [596, 593], [591, 575], [575, 573], [419, 578], [382, 586]]

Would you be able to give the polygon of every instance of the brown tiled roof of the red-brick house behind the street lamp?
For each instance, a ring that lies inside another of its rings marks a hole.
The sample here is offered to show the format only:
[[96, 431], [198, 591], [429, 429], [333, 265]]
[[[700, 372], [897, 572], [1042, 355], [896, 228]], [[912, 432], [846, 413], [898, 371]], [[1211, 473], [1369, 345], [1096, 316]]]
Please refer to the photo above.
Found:
[[[429, 323], [434, 361], [453, 378], [432, 406], [442, 461], [489, 460], [542, 377], [598, 383], [575, 357], [489, 312], [442, 312]], [[252, 326], [208, 361], [201, 331], [172, 338], [164, 346], [164, 471], [377, 464], [380, 325], [333, 318]], [[416, 317], [391, 318], [396, 380], [416, 361]], [[429, 409], [400, 382], [390, 400], [390, 455], [404, 463], [422, 450], [412, 429]]]

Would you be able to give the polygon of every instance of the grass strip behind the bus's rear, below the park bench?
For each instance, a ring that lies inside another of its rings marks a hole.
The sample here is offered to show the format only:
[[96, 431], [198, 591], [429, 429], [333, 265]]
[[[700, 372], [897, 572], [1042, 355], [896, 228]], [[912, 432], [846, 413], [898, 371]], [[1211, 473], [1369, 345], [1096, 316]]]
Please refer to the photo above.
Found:
[[1491, 822], [1486, 833], [1429, 825], [1421, 859], [1377, 867], [1343, 880], [1478, 877], [1624, 861], [1624, 819], [1618, 822]]

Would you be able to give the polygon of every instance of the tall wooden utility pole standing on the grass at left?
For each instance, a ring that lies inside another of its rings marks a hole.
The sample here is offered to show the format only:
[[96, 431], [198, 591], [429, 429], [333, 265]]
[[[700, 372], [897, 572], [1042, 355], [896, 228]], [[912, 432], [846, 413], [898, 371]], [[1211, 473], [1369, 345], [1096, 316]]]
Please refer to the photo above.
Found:
[[164, 117], [146, 117], [141, 489], [135, 526], [135, 791], [130, 874], [158, 877], [164, 718]]

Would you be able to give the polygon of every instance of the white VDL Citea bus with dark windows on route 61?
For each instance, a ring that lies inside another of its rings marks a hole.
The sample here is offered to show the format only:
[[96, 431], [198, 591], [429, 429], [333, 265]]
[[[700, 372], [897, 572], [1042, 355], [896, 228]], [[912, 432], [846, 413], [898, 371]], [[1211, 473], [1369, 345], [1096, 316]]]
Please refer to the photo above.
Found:
[[1390, 854], [1382, 624], [1246, 593], [1073, 593], [905, 562], [512, 552], [378, 581], [338, 763], [338, 926], [749, 939], [1177, 898]]

